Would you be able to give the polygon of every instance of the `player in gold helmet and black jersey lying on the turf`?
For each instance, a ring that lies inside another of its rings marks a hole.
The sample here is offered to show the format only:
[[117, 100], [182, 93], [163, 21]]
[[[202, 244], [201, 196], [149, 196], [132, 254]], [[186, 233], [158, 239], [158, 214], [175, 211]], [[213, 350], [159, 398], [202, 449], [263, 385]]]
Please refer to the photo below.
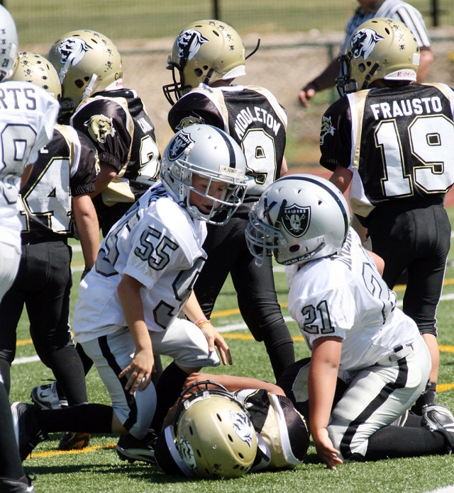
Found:
[[306, 423], [277, 385], [194, 373], [185, 387], [155, 443], [157, 465], [167, 474], [229, 478], [304, 459]]

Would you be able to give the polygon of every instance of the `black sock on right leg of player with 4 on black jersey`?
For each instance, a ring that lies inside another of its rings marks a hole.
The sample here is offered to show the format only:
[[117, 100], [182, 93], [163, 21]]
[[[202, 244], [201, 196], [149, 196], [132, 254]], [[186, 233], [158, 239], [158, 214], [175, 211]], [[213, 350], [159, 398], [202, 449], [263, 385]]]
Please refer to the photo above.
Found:
[[74, 406], [88, 402], [84, 365], [74, 346], [53, 351], [48, 362], [68, 404]]

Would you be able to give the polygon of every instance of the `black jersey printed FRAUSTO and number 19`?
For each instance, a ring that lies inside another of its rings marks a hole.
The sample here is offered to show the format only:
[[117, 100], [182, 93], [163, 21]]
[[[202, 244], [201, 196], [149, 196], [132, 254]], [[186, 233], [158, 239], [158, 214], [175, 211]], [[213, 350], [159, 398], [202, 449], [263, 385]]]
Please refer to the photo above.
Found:
[[454, 183], [453, 111], [445, 84], [348, 94], [323, 115], [320, 164], [353, 172], [350, 205], [362, 217], [392, 200], [442, 200]]

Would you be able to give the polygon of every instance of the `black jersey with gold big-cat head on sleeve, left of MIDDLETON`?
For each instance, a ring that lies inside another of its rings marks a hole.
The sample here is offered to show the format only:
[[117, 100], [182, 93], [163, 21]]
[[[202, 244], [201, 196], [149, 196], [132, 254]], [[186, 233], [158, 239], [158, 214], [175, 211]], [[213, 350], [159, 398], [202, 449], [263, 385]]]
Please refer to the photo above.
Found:
[[96, 93], [80, 103], [70, 123], [94, 142], [99, 161], [118, 171], [101, 193], [106, 205], [133, 203], [155, 183], [160, 160], [155, 128], [135, 91]]

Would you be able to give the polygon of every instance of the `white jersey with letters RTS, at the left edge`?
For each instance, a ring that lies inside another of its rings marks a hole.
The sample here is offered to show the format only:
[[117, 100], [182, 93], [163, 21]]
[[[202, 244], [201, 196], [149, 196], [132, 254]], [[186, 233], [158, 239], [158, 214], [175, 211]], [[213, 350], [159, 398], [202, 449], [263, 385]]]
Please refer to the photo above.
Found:
[[20, 248], [18, 192], [26, 164], [52, 138], [60, 105], [29, 82], [0, 84], [0, 229], [1, 242]]

